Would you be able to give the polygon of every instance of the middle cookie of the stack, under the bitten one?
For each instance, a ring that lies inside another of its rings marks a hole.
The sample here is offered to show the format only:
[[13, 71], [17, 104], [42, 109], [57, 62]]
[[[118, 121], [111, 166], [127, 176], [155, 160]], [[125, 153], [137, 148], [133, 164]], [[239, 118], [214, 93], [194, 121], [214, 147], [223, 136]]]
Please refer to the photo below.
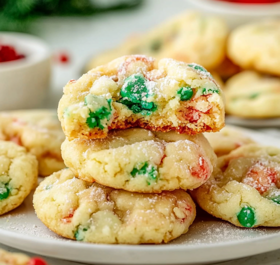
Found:
[[141, 128], [112, 130], [104, 139], [66, 139], [61, 152], [75, 176], [136, 192], [198, 187], [216, 162], [202, 134]]

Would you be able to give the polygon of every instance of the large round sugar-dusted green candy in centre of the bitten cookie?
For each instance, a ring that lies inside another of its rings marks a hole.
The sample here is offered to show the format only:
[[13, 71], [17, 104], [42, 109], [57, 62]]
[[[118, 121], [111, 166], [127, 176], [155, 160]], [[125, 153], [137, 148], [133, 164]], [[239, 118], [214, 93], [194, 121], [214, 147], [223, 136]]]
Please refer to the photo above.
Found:
[[132, 103], [140, 103], [141, 99], [148, 95], [145, 82], [146, 79], [142, 73], [133, 73], [125, 79], [120, 89], [120, 95]]

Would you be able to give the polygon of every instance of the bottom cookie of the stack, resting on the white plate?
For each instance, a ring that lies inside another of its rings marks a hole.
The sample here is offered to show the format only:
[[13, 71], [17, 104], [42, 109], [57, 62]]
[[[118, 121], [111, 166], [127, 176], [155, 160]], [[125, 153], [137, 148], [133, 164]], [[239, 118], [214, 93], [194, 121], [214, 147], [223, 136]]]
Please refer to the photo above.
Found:
[[69, 169], [46, 177], [33, 204], [54, 232], [94, 243], [161, 243], [187, 232], [195, 205], [182, 189], [133, 193], [75, 178]]

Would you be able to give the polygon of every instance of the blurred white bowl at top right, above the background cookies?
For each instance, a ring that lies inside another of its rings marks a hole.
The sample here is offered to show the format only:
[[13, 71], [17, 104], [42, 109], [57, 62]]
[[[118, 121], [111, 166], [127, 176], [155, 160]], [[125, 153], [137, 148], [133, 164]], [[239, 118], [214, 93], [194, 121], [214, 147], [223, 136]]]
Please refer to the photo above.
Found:
[[246, 4], [218, 0], [187, 0], [202, 12], [223, 17], [230, 28], [253, 20], [280, 16], [280, 2]]

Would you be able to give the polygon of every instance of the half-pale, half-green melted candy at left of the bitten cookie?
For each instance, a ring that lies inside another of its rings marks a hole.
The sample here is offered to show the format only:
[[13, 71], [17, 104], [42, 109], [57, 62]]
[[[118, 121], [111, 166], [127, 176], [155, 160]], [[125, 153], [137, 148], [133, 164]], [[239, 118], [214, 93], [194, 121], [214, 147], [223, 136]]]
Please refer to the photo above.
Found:
[[92, 94], [88, 94], [84, 98], [84, 104], [89, 108], [88, 117], [86, 118], [86, 124], [89, 128], [104, 128], [103, 124], [110, 119], [112, 114], [111, 102], [111, 99]]

